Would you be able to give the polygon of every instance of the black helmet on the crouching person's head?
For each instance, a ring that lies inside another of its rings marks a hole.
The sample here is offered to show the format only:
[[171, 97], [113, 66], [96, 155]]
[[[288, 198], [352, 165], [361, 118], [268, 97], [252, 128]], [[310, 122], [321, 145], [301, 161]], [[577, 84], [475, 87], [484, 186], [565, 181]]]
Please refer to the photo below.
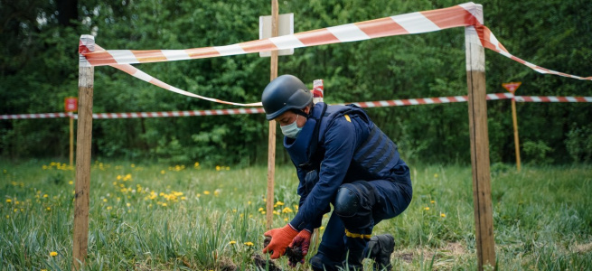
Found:
[[313, 102], [313, 94], [296, 76], [285, 74], [273, 79], [263, 89], [261, 103], [266, 117], [272, 120], [289, 109], [302, 109]]

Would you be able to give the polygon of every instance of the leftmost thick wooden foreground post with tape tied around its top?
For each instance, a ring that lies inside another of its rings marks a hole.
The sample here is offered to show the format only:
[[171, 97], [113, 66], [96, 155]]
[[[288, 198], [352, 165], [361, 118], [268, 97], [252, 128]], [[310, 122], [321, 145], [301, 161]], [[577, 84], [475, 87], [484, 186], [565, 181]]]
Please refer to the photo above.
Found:
[[[94, 51], [95, 38], [80, 36], [80, 49]], [[92, 96], [94, 67], [80, 55], [78, 80], [78, 134], [76, 138], [76, 187], [72, 270], [80, 269], [89, 246], [90, 141], [92, 138]]]

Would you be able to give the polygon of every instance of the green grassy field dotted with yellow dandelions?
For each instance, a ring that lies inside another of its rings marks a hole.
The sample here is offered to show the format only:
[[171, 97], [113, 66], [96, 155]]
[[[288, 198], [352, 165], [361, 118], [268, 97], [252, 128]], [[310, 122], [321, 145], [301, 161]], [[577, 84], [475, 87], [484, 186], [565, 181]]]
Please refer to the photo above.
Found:
[[[0, 161], [0, 170], [2, 270], [70, 270], [73, 169]], [[419, 166], [412, 178], [409, 209], [375, 228], [396, 239], [393, 269], [475, 270], [470, 166]], [[95, 162], [90, 180], [85, 270], [257, 269], [266, 168]], [[274, 227], [297, 211], [296, 185], [292, 167], [277, 168]], [[492, 191], [500, 270], [592, 270], [591, 166], [493, 165]]]

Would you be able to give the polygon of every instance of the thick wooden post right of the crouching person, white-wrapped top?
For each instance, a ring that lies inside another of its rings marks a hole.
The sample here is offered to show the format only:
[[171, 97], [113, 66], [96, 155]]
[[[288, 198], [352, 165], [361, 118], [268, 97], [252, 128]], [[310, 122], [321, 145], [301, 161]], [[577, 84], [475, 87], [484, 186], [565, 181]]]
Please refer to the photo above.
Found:
[[[483, 23], [483, 6], [475, 15]], [[468, 85], [471, 164], [473, 166], [473, 201], [478, 268], [495, 266], [493, 208], [489, 167], [489, 135], [485, 91], [485, 51], [475, 26], [465, 27], [466, 81]]]

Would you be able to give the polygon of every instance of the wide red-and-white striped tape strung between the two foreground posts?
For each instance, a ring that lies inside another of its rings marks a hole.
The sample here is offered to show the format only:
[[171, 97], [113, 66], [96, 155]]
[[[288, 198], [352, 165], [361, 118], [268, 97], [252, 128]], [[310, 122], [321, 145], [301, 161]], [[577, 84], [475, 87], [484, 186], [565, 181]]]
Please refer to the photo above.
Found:
[[210, 100], [213, 102], [235, 106], [252, 107], [260, 106], [260, 103], [242, 104], [195, 95], [191, 92], [174, 88], [129, 64], [194, 60], [254, 53], [260, 51], [312, 47], [339, 42], [358, 42], [394, 35], [428, 33], [453, 27], [474, 26], [476, 33], [479, 35], [482, 46], [492, 51], [497, 51], [498, 53], [512, 59], [513, 61], [518, 61], [532, 70], [536, 70], [543, 74], [554, 74], [573, 79], [592, 80], [592, 76], [584, 78], [555, 70], [549, 70], [513, 56], [505, 49], [505, 47], [503, 47], [503, 44], [497, 40], [491, 30], [484, 26], [484, 22], [481, 22], [477, 19], [482, 16], [475, 16], [475, 14], [481, 13], [483, 13], [481, 5], [475, 5], [473, 2], [469, 2], [442, 9], [410, 14], [400, 14], [358, 23], [347, 23], [303, 33], [294, 33], [264, 40], [240, 42], [225, 46], [211, 46], [185, 50], [106, 51], [97, 45], [97, 51], [92, 51], [89, 50], [86, 44], [80, 42], [79, 52], [81, 54], [81, 58], [84, 58], [84, 60], [81, 61], [84, 61], [85, 64], [88, 61], [88, 64], [93, 66], [109, 65], [116, 69], [123, 70], [137, 79], [145, 80], [146, 82], [152, 83], [163, 89], [194, 98]]

